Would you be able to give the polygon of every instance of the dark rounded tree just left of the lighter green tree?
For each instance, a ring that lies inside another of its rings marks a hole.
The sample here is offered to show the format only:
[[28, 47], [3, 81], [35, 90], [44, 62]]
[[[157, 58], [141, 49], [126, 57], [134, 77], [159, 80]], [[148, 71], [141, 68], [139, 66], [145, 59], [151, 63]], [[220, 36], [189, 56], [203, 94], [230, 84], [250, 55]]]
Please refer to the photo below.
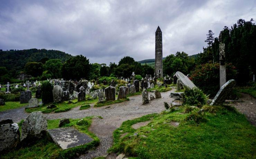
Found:
[[40, 76], [43, 73], [43, 64], [40, 62], [28, 62], [24, 67], [24, 72], [33, 77]]

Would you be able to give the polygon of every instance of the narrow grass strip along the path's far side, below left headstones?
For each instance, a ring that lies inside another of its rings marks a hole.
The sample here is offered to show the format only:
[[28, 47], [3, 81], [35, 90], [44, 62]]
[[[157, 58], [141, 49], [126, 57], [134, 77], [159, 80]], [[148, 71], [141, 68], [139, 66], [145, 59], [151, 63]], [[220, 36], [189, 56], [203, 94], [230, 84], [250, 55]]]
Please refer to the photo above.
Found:
[[77, 99], [74, 99], [74, 100], [72, 100], [72, 104], [68, 104], [68, 101], [64, 101], [62, 103], [54, 103], [54, 105], [56, 105], [57, 108], [47, 109], [47, 105], [42, 105], [42, 106], [39, 106], [36, 108], [26, 108], [25, 111], [27, 113], [32, 113], [32, 112], [36, 112], [36, 111], [42, 111], [43, 113], [67, 112], [68, 110], [70, 110], [74, 107], [85, 105], [85, 104], [96, 103], [97, 101], [98, 101], [98, 99], [90, 99], [90, 100], [84, 100], [81, 102], [77, 102]]

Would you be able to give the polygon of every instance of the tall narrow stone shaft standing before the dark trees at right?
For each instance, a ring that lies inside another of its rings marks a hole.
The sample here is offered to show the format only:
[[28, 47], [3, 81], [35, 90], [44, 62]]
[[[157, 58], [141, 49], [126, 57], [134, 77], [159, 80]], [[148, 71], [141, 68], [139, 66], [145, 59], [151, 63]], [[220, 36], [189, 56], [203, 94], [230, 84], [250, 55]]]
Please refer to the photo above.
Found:
[[220, 88], [226, 83], [226, 56], [225, 56], [225, 43], [221, 39], [222, 31], [219, 35], [219, 49], [220, 49]]

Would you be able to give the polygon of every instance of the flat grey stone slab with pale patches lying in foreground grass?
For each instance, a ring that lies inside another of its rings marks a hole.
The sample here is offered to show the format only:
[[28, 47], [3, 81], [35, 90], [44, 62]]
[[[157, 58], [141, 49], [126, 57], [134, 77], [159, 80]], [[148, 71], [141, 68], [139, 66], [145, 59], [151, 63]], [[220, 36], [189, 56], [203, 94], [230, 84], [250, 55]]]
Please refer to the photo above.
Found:
[[58, 144], [63, 150], [87, 144], [93, 139], [76, 130], [73, 127], [57, 128], [48, 130], [53, 141]]

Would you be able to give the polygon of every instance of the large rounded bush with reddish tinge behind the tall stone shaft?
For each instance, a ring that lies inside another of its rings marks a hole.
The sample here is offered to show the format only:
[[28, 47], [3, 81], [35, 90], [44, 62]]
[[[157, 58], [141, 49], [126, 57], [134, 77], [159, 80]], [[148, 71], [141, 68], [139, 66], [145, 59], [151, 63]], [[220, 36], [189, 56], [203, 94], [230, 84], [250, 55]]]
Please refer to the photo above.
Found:
[[[195, 70], [192, 71], [190, 79], [193, 83], [198, 86], [206, 94], [209, 94], [210, 97], [214, 97], [219, 91], [219, 63], [206, 63], [202, 65], [197, 65]], [[232, 64], [226, 64], [226, 75], [227, 81], [234, 79], [236, 77], [237, 71]]]

